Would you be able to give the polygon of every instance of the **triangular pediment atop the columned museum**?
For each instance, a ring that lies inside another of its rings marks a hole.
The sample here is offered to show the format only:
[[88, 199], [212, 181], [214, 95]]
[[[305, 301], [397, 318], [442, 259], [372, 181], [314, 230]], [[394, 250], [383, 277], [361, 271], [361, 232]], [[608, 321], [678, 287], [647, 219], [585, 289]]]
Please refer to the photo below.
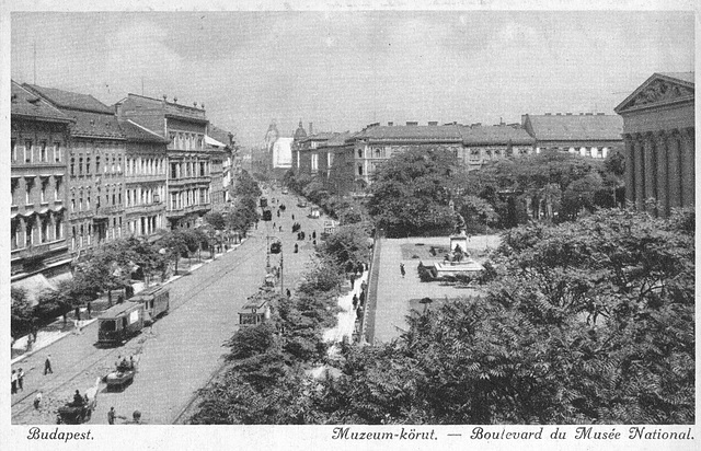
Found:
[[693, 99], [693, 82], [655, 73], [617, 106], [614, 111], [621, 113], [628, 109], [665, 105], [689, 99]]

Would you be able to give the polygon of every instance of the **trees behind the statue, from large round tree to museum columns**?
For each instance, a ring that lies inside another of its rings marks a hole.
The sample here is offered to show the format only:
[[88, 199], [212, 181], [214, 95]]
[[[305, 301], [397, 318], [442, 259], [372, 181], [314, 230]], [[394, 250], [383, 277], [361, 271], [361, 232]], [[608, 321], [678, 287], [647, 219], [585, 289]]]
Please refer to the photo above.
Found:
[[413, 148], [375, 173], [368, 211], [389, 235], [446, 234], [456, 221], [468, 231], [505, 229], [529, 218], [553, 222], [623, 201], [623, 160], [545, 151], [486, 163], [468, 172], [452, 152]]

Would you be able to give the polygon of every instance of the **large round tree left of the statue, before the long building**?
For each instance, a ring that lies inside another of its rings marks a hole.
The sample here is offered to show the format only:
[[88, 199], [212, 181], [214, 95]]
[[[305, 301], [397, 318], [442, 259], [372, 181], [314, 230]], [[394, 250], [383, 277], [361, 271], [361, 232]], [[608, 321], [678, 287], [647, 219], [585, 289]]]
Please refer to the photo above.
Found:
[[411, 148], [392, 155], [374, 175], [368, 212], [389, 235], [450, 231], [455, 213], [449, 200], [461, 189], [456, 184], [461, 171], [447, 150]]

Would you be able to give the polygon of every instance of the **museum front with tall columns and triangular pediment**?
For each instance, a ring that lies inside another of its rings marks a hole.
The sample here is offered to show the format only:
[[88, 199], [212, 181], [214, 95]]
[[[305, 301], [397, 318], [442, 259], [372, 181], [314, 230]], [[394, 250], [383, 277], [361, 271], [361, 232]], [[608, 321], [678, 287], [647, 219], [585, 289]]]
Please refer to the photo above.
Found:
[[625, 199], [651, 212], [693, 207], [694, 73], [654, 73], [616, 112], [623, 118]]

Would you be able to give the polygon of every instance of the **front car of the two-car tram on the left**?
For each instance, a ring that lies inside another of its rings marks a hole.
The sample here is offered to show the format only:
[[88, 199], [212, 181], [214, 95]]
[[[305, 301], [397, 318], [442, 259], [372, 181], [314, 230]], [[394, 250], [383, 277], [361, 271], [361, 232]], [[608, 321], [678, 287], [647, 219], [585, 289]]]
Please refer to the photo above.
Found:
[[146, 310], [140, 302], [124, 302], [105, 310], [100, 316], [97, 343], [122, 345], [143, 328]]

